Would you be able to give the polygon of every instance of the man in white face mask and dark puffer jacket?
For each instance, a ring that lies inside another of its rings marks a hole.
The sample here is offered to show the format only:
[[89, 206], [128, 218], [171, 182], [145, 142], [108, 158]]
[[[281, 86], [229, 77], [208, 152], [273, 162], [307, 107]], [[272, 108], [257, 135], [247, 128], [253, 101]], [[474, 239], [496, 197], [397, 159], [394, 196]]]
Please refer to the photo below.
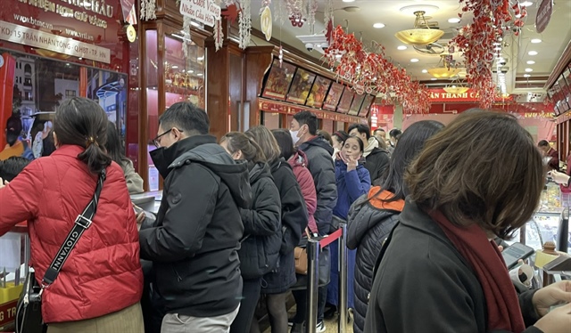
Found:
[[[337, 203], [337, 184], [335, 183], [335, 167], [333, 165], [333, 147], [321, 136], [317, 135], [318, 118], [310, 111], [302, 111], [294, 115], [290, 125], [290, 134], [294, 140], [294, 146], [302, 150], [308, 158], [308, 168], [313, 176], [315, 190], [318, 197], [318, 207], [315, 210], [315, 222], [318, 224], [319, 235], [327, 235], [332, 231], [333, 208]], [[328, 256], [328, 248], [322, 255]], [[294, 293], [295, 301], [303, 302], [305, 294], [302, 291]], [[325, 332], [323, 313], [327, 298], [327, 286], [319, 287], [318, 299], [318, 328], [317, 332]], [[298, 312], [294, 323], [302, 322], [304, 313]], [[297, 325], [296, 325], [297, 326]], [[294, 329], [292, 329], [294, 331]]]

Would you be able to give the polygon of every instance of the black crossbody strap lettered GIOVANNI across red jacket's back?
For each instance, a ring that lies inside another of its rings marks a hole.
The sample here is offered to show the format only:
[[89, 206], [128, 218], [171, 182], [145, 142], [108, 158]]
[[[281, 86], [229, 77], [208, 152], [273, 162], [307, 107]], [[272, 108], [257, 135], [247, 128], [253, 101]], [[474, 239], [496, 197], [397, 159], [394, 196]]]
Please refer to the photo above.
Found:
[[71, 231], [65, 238], [62, 247], [57, 251], [57, 255], [54, 257], [54, 261], [52, 261], [52, 264], [50, 264], [48, 267], [46, 274], [44, 274], [44, 279], [42, 279], [42, 291], [54, 283], [57, 275], [62, 270], [63, 264], [65, 264], [65, 261], [70, 256], [71, 250], [75, 248], [83, 232], [86, 231], [87, 228], [89, 228], [91, 225], [93, 217], [95, 216], [95, 212], [97, 211], [97, 203], [99, 201], [99, 195], [101, 194], [101, 189], [103, 188], [105, 177], [106, 173], [105, 170], [103, 170], [99, 174], [99, 179], [97, 180], [97, 187], [95, 188], [93, 199], [89, 201], [87, 207], [83, 210], [83, 213], [78, 215], [78, 217], [75, 219], [73, 228], [71, 228]]

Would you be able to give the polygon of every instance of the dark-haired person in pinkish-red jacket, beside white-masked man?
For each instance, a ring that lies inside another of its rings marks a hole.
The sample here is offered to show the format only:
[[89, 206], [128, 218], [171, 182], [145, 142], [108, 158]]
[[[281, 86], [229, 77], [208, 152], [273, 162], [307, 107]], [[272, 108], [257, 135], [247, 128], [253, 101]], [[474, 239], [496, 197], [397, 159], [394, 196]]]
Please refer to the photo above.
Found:
[[313, 183], [313, 177], [311, 176], [310, 170], [307, 168], [307, 158], [302, 150], [296, 150], [294, 148], [294, 142], [292, 141], [292, 136], [288, 131], [283, 129], [273, 129], [271, 131], [277, 140], [277, 144], [281, 150], [282, 158], [285, 158], [290, 166], [294, 169], [294, 175], [297, 179], [297, 183], [300, 184], [302, 188], [303, 199], [305, 199], [305, 205], [307, 206], [307, 214], [310, 216], [308, 221], [308, 227], [312, 233], [318, 232], [318, 224], [315, 223], [315, 218], [313, 214], [315, 209], [318, 207], [318, 197], [315, 191], [315, 183]]

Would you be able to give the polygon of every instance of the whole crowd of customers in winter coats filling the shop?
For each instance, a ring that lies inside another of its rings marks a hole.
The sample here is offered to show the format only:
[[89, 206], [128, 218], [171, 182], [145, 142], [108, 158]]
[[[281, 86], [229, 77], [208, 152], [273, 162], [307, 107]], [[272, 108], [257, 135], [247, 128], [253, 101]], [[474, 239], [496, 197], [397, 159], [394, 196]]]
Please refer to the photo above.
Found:
[[[286, 333], [286, 298], [301, 278], [294, 248], [339, 223], [355, 332], [570, 327], [571, 281], [517, 294], [493, 241], [531, 218], [545, 179], [542, 153], [509, 114], [419, 121], [387, 140], [363, 124], [329, 135], [302, 111], [289, 129], [217, 140], [204, 110], [178, 102], [150, 152], [164, 180], [154, 220], [133, 209], [129, 192], [142, 183], [99, 105], [66, 100], [53, 126], [50, 156], [0, 163], [0, 202], [11, 203], [0, 205], [0, 235], [28, 221], [37, 277], [104, 181], [93, 223], [44, 291], [48, 333], [259, 332], [261, 301], [271, 331]], [[340, 306], [337, 247], [320, 255], [331, 274], [319, 286], [318, 332]], [[291, 331], [304, 332], [307, 292], [293, 295]]]

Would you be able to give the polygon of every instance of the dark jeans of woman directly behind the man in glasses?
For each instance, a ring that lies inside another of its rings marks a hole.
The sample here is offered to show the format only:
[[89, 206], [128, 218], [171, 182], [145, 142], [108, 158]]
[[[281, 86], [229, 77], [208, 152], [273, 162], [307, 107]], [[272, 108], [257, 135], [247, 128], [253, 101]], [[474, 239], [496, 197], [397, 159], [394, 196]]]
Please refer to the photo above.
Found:
[[[230, 326], [230, 333], [244, 333], [250, 331], [253, 314], [260, 299], [261, 279], [244, 280], [242, 288], [242, 302], [236, 319]], [[256, 323], [257, 324], [257, 323]]]

